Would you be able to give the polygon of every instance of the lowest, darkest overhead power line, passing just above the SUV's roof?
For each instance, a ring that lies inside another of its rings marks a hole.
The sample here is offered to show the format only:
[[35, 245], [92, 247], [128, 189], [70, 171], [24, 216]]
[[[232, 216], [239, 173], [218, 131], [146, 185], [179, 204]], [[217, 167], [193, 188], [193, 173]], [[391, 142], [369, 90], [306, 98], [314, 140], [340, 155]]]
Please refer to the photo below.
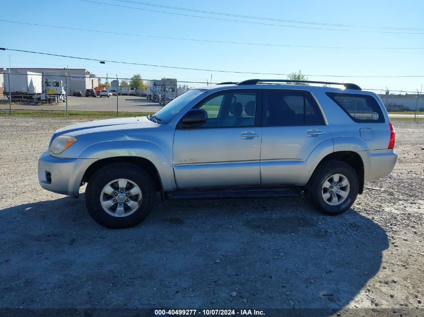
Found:
[[[289, 76], [290, 75], [290, 74], [280, 74], [280, 73], [257, 73], [257, 72], [224, 71], [224, 70], [212, 70], [212, 69], [201, 69], [201, 68], [189, 68], [189, 67], [177, 67], [177, 66], [143, 64], [143, 63], [134, 63], [134, 62], [109, 61], [109, 60], [100, 60], [100, 59], [93, 59], [93, 58], [87, 58], [87, 57], [77, 57], [77, 56], [60, 55], [60, 54], [43, 53], [43, 52], [34, 52], [34, 51], [17, 50], [17, 49], [7, 49], [7, 48], [0, 48], [0, 50], [2, 50], [2, 51], [14, 51], [14, 52], [31, 53], [31, 54], [40, 54], [40, 55], [49, 55], [49, 56], [57, 56], [57, 57], [65, 57], [65, 58], [72, 58], [72, 59], [86, 60], [86, 61], [95, 61], [95, 62], [107, 62], [107, 63], [128, 64], [128, 65], [141, 65], [141, 66], [173, 68], [173, 69], [183, 69], [183, 70], [202, 71], [202, 72], [232, 73], [232, 74], [251, 74], [251, 75], [276, 75], [276, 76]], [[338, 78], [406, 78], [406, 77], [424, 77], [424, 75], [347, 76], [347, 75], [311, 75], [311, 74], [305, 74], [304, 76], [311, 76], [311, 77], [338, 77]]]

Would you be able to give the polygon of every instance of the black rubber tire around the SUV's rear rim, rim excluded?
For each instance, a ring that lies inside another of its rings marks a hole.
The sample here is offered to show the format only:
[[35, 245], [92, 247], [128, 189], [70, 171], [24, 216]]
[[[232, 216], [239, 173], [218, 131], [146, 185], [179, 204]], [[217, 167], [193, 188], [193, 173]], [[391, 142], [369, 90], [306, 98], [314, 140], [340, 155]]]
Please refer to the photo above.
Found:
[[[350, 186], [346, 199], [338, 205], [330, 205], [323, 198], [324, 182], [334, 174], [346, 176]], [[323, 214], [335, 216], [347, 211], [353, 205], [358, 195], [358, 189], [359, 177], [353, 167], [345, 162], [331, 160], [318, 165], [305, 188], [305, 192], [312, 207]]]

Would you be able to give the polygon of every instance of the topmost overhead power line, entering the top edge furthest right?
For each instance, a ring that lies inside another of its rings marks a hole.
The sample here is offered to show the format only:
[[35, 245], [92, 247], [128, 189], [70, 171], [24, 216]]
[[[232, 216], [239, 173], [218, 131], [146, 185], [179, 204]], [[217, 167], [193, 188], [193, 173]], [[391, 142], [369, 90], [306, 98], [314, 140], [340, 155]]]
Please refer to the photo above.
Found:
[[275, 18], [244, 16], [244, 15], [237, 15], [237, 14], [230, 14], [230, 13], [205, 11], [205, 10], [197, 10], [197, 9], [188, 9], [188, 8], [182, 8], [182, 7], [172, 7], [172, 6], [151, 4], [151, 3], [131, 1], [131, 0], [113, 0], [113, 1], [142, 5], [142, 6], [149, 6], [149, 7], [157, 7], [157, 8], [165, 8], [165, 9], [172, 9], [172, 10], [182, 10], [182, 11], [188, 11], [188, 12], [197, 12], [197, 13], [205, 13], [205, 14], [211, 14], [211, 15], [227, 16], [227, 17], [234, 17], [234, 18], [245, 18], [245, 19], [265, 20], [265, 21], [277, 21], [277, 22], [295, 23], [295, 24], [321, 25], [321, 26], [344, 27], [344, 28], [359, 27], [359, 28], [366, 28], [366, 29], [424, 31], [424, 29], [418, 29], [418, 28], [371, 27], [371, 26], [358, 26], [358, 25], [350, 25], [350, 24], [333, 24], [333, 23], [323, 23], [323, 22], [311, 22], [311, 21], [299, 21], [299, 20], [282, 20], [282, 19], [275, 19]]

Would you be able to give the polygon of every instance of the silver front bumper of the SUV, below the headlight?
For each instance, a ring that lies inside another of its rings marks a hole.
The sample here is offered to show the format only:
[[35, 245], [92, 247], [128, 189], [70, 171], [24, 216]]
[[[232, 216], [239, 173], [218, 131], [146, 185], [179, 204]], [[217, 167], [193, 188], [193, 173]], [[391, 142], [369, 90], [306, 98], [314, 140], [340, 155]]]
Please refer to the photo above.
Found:
[[38, 160], [38, 180], [44, 189], [78, 197], [82, 177], [96, 160], [58, 158], [46, 151]]

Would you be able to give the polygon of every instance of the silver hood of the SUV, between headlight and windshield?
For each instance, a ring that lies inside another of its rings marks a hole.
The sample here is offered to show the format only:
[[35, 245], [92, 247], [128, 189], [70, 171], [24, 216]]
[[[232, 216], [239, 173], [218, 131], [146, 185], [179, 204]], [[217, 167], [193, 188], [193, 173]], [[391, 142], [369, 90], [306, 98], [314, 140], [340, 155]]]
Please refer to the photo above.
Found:
[[[158, 126], [158, 124], [150, 121], [147, 117], [130, 117], [130, 118], [116, 118], [106, 120], [96, 120], [84, 123], [77, 123], [71, 126], [64, 127], [55, 131], [53, 138], [62, 135], [72, 135], [72, 132], [103, 128], [101, 130], [108, 130], [109, 128], [116, 128], [116, 126], [122, 126], [127, 124], [137, 124], [137, 128], [152, 128]], [[87, 131], [88, 132], [88, 131]]]

